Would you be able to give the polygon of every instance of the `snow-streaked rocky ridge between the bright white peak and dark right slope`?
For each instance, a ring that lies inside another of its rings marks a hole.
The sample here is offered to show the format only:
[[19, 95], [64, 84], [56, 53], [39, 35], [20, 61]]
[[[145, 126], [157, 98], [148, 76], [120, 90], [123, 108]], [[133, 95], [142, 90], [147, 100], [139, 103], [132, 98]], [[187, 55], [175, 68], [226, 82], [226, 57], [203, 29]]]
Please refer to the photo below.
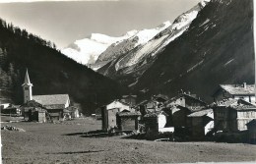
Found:
[[114, 79], [128, 74], [133, 74], [133, 76], [136, 74], [136, 77], [139, 77], [154, 63], [164, 47], [190, 26], [209, 1], [200, 2], [175, 19], [173, 24], [163, 23], [160, 27], [151, 29], [152, 32], [141, 30], [123, 42], [109, 46], [100, 54], [97, 62], [110, 61], [110, 63], [99, 69], [98, 72]]

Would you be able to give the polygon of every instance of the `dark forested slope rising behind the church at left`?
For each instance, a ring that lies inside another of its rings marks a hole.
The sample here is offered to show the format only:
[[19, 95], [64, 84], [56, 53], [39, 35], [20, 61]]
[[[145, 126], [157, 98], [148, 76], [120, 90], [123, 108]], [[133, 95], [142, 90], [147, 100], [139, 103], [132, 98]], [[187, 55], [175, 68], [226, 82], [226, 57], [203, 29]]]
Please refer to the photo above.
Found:
[[119, 83], [64, 56], [54, 43], [0, 20], [1, 102], [22, 104], [21, 85], [27, 68], [32, 94], [68, 93], [86, 114], [126, 91]]

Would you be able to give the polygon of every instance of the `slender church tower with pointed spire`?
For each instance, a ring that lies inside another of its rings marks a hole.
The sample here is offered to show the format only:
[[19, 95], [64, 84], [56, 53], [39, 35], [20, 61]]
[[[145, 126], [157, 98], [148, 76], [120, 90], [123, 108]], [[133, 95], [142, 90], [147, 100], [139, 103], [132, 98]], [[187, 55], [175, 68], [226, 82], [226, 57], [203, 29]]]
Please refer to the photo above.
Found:
[[24, 103], [32, 100], [32, 83], [30, 81], [28, 70], [25, 75], [25, 80], [23, 83], [23, 95], [24, 95]]

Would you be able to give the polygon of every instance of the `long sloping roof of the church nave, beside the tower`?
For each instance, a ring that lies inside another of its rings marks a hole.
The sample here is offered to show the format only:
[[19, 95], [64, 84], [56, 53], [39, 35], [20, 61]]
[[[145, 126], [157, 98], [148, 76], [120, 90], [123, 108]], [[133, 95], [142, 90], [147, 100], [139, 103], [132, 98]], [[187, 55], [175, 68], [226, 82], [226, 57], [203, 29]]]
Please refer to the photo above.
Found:
[[33, 95], [32, 99], [45, 107], [51, 109], [65, 108], [65, 104], [69, 100], [68, 94], [51, 94], [51, 95]]

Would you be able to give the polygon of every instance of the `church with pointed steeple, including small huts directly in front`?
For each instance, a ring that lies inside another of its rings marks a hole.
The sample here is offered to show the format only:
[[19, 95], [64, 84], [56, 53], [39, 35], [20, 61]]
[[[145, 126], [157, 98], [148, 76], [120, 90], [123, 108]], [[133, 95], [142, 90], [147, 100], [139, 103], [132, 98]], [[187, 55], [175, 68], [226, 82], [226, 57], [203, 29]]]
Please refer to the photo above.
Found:
[[23, 115], [28, 121], [60, 120], [70, 106], [68, 94], [32, 95], [32, 82], [28, 70], [22, 84], [24, 94]]

